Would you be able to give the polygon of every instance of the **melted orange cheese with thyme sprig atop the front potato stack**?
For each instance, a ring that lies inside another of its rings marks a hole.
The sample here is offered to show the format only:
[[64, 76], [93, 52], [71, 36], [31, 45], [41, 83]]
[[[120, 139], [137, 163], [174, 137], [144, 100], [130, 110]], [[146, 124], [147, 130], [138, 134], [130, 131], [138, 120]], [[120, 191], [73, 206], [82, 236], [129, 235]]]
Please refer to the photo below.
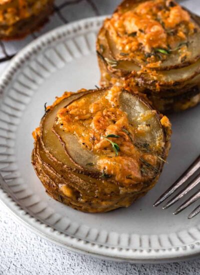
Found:
[[[160, 159], [135, 144], [135, 136], [145, 136], [146, 129], [129, 123], [127, 113], [119, 106], [120, 93], [121, 88], [113, 86], [101, 97], [83, 96], [59, 109], [56, 124], [99, 156], [97, 167], [103, 175], [112, 176], [124, 185], [135, 184], [152, 179]], [[148, 110], [138, 119], [143, 121], [155, 113]], [[149, 125], [147, 128], [149, 130]]]

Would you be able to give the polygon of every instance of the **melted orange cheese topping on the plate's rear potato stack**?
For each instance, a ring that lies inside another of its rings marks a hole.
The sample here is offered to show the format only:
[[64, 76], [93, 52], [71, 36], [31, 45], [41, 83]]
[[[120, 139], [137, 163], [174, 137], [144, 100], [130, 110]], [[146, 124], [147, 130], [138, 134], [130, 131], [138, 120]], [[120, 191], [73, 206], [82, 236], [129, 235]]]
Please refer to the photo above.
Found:
[[[178, 46], [184, 53], [187, 46], [182, 42], [196, 30], [189, 13], [171, 0], [145, 1], [126, 12], [119, 9], [105, 20], [104, 27], [120, 51], [117, 59], [137, 57], [154, 66], [156, 62], [159, 66], [157, 49], [169, 50]], [[166, 55], [161, 57], [163, 60]]]

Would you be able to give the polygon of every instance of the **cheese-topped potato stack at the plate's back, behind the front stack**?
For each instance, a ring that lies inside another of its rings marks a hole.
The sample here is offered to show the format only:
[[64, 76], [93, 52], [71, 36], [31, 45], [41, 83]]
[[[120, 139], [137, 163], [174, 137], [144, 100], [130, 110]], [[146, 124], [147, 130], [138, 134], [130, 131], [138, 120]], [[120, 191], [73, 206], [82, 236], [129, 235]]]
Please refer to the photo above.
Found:
[[[124, 0], [96, 42], [100, 84], [126, 80], [161, 112], [200, 101], [200, 17], [173, 0]], [[124, 86], [125, 87], [125, 86]]]

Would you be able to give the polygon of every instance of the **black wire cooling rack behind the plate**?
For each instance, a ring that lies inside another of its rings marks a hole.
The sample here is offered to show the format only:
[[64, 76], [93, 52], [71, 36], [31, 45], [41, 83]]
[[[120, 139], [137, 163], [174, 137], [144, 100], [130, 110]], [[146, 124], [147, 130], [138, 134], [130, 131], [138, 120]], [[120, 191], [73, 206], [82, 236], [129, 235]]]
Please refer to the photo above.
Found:
[[[64, 16], [64, 12], [63, 12], [64, 8], [67, 6], [70, 6], [70, 5], [78, 5], [81, 2], [84, 3], [85, 8], [92, 9], [94, 15], [100, 15], [100, 12], [99, 12], [94, 0], [59, 0], [59, 1], [55, 1], [55, 4], [53, 6], [54, 14], [56, 14], [60, 19], [60, 22], [57, 24], [57, 26], [61, 25], [61, 24], [66, 24], [69, 22], [67, 20], [66, 16]], [[35, 33], [31, 33], [30, 37], [31, 37], [31, 40], [33, 40], [37, 37], [37, 35]], [[30, 42], [31, 40], [28, 40], [28, 42]], [[9, 43], [11, 43], [11, 41]], [[26, 43], [24, 42], [24, 44], [21, 47], [23, 47], [25, 44]], [[19, 49], [20, 49], [20, 47], [19, 47]], [[5, 61], [10, 60], [17, 53], [18, 50], [14, 51], [13, 53], [10, 54], [7, 51], [5, 42], [0, 40], [0, 51], [1, 51], [0, 63], [3, 63]]]

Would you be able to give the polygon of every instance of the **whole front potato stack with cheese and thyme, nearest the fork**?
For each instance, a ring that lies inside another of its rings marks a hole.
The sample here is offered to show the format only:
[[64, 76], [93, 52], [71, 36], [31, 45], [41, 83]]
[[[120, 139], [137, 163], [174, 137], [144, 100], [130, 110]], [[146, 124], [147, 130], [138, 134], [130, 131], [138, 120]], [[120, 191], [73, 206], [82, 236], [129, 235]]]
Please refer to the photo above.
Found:
[[170, 134], [166, 116], [122, 87], [65, 92], [33, 132], [32, 164], [52, 198], [106, 212], [154, 186]]

